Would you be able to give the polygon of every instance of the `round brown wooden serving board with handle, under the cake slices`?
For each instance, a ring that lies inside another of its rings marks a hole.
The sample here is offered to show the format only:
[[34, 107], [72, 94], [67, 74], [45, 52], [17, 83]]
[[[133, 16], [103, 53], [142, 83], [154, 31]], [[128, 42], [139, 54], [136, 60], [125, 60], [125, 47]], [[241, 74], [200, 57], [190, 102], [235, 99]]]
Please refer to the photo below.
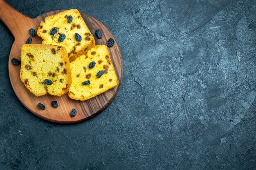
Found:
[[[54, 15], [61, 11], [65, 10], [51, 11], [33, 19], [19, 13], [5, 1], [0, 0], [0, 19], [4, 22], [4, 24], [7, 25], [15, 38], [9, 56], [9, 76], [11, 85], [18, 99], [27, 109], [42, 119], [60, 124], [72, 124], [94, 117], [104, 110], [110, 104], [110, 102], [112, 102], [121, 85], [123, 77], [123, 61], [117, 40], [106, 28], [106, 26], [92, 16], [80, 12], [83, 20], [87, 24], [91, 33], [94, 35], [96, 45], [106, 45], [109, 38], [113, 38], [115, 40], [114, 46], [110, 48], [108, 47], [108, 52], [117, 74], [118, 85], [115, 86], [115, 88], [112, 88], [105, 93], [86, 101], [70, 99], [67, 95], [57, 97], [48, 94], [36, 97], [33, 93], [31, 93], [20, 80], [20, 66], [13, 66], [11, 64], [11, 59], [16, 58], [20, 60], [21, 46], [25, 44], [29, 36], [31, 36], [29, 34], [29, 29], [34, 28], [37, 31], [40, 22], [43, 21], [45, 17]], [[103, 37], [101, 39], [98, 39], [95, 36], [96, 29], [100, 29], [102, 31]], [[41, 38], [39, 38], [37, 35], [36, 37], [32, 37], [32, 41], [33, 44], [41, 44], [42, 42]], [[52, 106], [53, 100], [58, 102], [58, 108], [54, 108]], [[37, 106], [38, 103], [44, 104], [46, 109], [39, 109]], [[77, 111], [75, 117], [71, 117], [70, 115], [73, 108], [75, 108]]]

